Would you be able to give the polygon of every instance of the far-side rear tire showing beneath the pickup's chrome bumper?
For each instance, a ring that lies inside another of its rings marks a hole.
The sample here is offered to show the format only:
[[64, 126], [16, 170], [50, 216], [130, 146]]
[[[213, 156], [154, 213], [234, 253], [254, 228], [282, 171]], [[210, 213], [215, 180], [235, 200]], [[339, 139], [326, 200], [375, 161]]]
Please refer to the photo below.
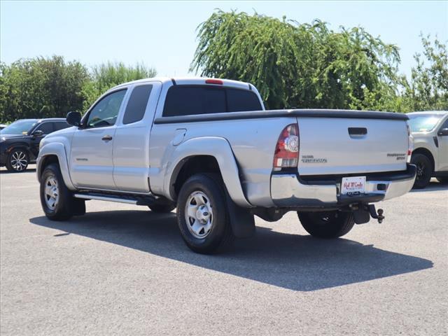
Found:
[[349, 233], [355, 224], [353, 214], [341, 211], [300, 212], [300, 223], [307, 232], [318, 238], [337, 238]]

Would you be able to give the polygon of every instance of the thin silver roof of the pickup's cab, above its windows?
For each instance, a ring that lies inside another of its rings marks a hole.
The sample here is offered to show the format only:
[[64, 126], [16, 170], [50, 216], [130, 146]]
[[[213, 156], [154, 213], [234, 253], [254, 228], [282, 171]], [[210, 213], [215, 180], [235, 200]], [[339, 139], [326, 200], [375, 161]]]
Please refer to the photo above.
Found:
[[206, 80], [208, 80], [208, 79], [221, 80], [223, 82], [222, 85], [227, 86], [227, 87], [237, 87], [237, 88], [246, 89], [246, 90], [252, 90], [252, 88], [253, 88], [253, 86], [251, 84], [249, 84], [249, 83], [240, 82], [239, 80], [230, 80], [230, 79], [221, 79], [221, 78], [153, 77], [153, 78], [144, 78], [144, 79], [139, 79], [139, 80], [132, 80], [131, 82], [127, 82], [127, 83], [123, 83], [123, 84], [117, 85], [116, 87], [113, 87], [113, 89], [115, 89], [117, 87], [123, 87], [123, 86], [127, 86], [127, 85], [134, 85], [134, 84], [147, 83], [147, 82], [161, 82], [162, 84], [164, 84], [164, 83], [172, 83], [174, 85], [221, 85], [221, 84], [206, 83]]

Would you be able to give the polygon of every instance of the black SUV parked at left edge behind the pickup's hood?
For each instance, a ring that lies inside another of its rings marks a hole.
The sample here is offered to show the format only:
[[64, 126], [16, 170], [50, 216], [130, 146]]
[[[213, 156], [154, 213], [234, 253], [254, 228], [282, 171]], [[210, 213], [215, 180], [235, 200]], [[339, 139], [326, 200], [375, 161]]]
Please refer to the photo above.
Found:
[[36, 162], [45, 135], [70, 127], [65, 118], [22, 119], [0, 131], [0, 166], [10, 172], [24, 172]]

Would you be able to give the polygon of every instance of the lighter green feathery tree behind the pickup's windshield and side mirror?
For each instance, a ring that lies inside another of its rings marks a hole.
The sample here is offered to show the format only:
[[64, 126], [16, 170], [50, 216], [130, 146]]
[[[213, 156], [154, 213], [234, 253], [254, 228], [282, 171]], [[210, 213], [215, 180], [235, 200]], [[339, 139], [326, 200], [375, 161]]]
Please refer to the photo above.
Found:
[[85, 97], [83, 109], [86, 111], [101, 94], [111, 87], [131, 80], [154, 77], [156, 74], [155, 69], [146, 67], [144, 64], [125, 66], [122, 62], [115, 64], [107, 62], [93, 66], [90, 80], [83, 87]]

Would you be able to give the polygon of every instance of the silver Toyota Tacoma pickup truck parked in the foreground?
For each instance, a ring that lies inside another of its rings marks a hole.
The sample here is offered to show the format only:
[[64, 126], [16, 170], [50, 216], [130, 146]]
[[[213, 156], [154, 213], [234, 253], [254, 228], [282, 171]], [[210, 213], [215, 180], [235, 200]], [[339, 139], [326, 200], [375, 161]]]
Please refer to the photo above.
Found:
[[253, 85], [148, 78], [113, 87], [73, 127], [41, 141], [45, 215], [85, 214], [86, 200], [155, 212], [177, 208], [186, 244], [214, 253], [255, 231], [254, 215], [297, 211], [316, 237], [380, 222], [374, 202], [407, 193], [407, 116], [332, 110], [265, 111]]

